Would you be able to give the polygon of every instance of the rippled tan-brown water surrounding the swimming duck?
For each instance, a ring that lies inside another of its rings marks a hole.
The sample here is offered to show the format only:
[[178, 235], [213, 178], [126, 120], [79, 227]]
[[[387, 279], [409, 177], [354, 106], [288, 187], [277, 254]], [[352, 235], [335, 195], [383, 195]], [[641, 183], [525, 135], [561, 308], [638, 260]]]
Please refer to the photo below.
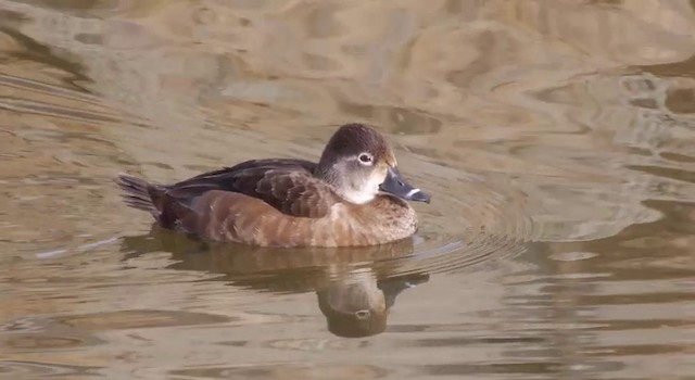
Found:
[[[0, 1], [0, 378], [692, 379], [687, 1]], [[202, 244], [123, 206], [389, 134], [413, 241]], [[344, 338], [353, 337], [353, 338]]]

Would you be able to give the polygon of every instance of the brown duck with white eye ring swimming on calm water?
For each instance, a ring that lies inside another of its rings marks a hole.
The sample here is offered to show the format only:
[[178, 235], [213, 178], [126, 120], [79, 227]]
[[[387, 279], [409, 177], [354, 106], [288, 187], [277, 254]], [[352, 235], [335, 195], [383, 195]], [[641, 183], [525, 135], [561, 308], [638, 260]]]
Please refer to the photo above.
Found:
[[387, 139], [374, 127], [346, 124], [317, 163], [250, 160], [173, 183], [121, 174], [125, 204], [149, 212], [163, 228], [193, 238], [277, 248], [386, 244], [418, 228], [407, 201], [430, 203], [408, 183]]

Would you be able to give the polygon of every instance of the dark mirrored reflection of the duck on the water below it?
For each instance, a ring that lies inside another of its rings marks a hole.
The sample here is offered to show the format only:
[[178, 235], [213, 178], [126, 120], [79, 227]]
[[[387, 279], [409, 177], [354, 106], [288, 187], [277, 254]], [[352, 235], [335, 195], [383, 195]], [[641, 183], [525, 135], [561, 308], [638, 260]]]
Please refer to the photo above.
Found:
[[328, 330], [361, 338], [383, 332], [390, 308], [405, 289], [426, 282], [429, 275], [399, 275], [414, 253], [412, 239], [365, 248], [269, 249], [207, 243], [153, 226], [148, 235], [125, 237], [125, 258], [170, 252], [180, 270], [222, 276], [217, 281], [273, 292], [316, 292]]

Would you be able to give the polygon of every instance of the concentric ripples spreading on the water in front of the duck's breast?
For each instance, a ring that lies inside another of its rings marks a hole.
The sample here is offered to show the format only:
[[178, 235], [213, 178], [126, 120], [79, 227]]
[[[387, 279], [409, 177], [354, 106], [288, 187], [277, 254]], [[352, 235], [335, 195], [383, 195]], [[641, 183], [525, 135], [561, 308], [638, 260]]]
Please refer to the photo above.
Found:
[[[418, 206], [420, 230], [415, 252], [389, 265], [399, 275], [458, 271], [466, 267], [518, 255], [535, 239], [522, 194], [494, 178], [453, 168], [428, 168], [415, 176], [428, 183], [430, 205]], [[439, 175], [439, 176], [437, 176]]]

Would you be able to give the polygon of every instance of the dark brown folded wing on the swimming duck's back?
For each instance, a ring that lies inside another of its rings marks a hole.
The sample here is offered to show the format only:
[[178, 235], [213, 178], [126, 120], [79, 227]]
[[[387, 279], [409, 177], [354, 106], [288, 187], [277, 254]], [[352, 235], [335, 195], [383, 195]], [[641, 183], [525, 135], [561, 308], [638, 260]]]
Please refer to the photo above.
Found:
[[207, 191], [231, 191], [260, 199], [287, 215], [318, 218], [341, 199], [313, 176], [315, 167], [303, 160], [247, 161], [167, 186], [166, 197], [192, 205]]

